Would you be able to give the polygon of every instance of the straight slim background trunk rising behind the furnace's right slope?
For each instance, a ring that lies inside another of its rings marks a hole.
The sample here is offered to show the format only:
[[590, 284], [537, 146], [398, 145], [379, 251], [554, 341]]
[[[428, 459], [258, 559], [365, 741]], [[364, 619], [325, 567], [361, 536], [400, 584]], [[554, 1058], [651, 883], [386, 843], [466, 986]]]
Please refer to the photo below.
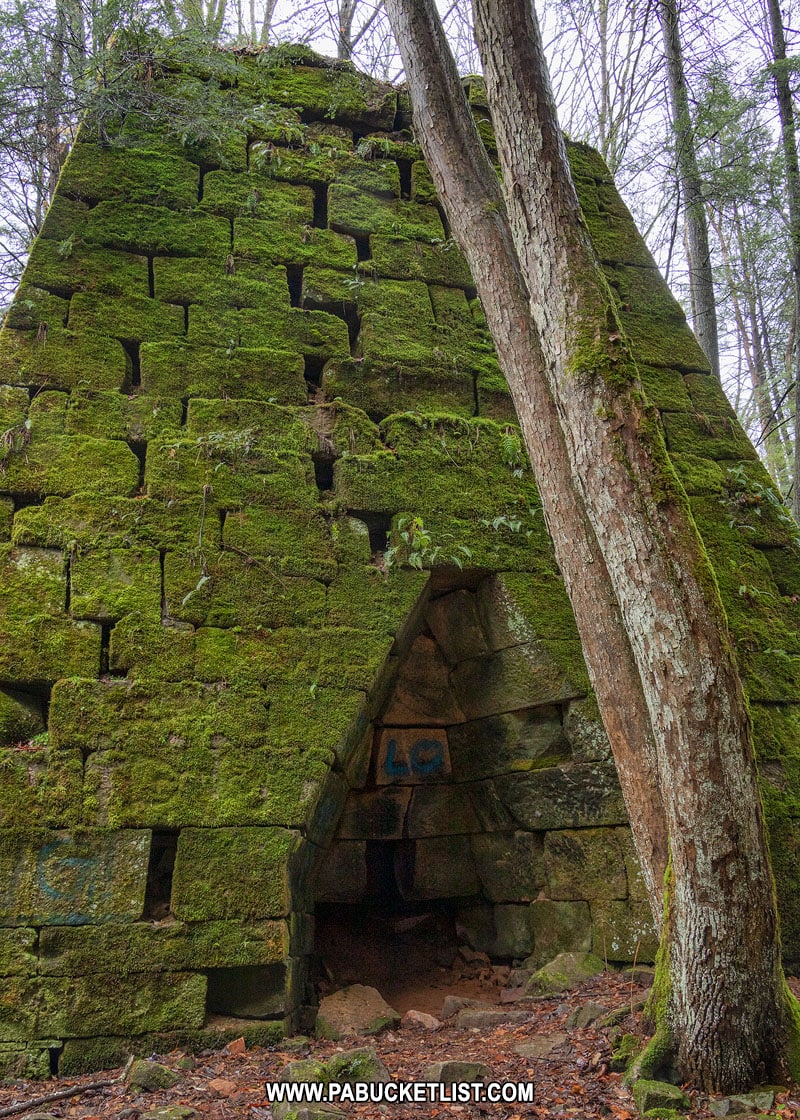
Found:
[[719, 340], [717, 309], [711, 274], [711, 253], [708, 245], [708, 224], [703, 198], [703, 181], [697, 167], [695, 132], [689, 111], [689, 94], [683, 74], [683, 54], [680, 45], [678, 8], [676, 0], [658, 0], [659, 21], [664, 40], [667, 77], [672, 109], [676, 164], [680, 192], [683, 196], [686, 248], [689, 262], [689, 292], [691, 323], [703, 353], [708, 358], [714, 375], [719, 377]]

